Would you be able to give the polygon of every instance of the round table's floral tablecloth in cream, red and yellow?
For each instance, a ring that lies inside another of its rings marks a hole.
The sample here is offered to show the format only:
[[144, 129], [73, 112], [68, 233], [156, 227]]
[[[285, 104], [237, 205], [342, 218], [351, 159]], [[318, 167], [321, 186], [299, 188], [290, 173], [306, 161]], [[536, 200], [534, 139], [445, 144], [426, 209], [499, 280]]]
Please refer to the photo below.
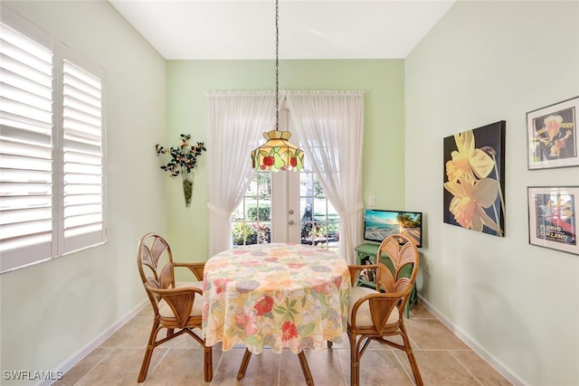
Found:
[[206, 344], [321, 351], [346, 332], [349, 287], [346, 260], [327, 249], [274, 243], [223, 251], [204, 268]]

